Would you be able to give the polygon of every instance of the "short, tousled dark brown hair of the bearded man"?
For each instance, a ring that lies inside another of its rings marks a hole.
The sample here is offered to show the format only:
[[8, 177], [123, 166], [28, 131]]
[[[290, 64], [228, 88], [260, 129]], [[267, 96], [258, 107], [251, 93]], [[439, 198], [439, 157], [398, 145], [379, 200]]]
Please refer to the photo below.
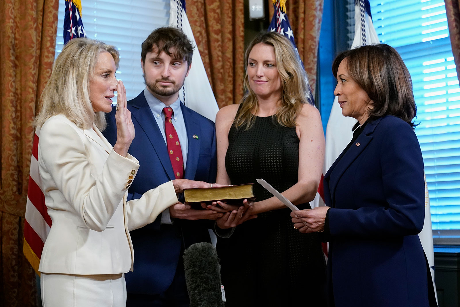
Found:
[[145, 63], [145, 56], [155, 50], [162, 51], [177, 59], [184, 59], [188, 66], [192, 63], [193, 46], [187, 35], [173, 27], [155, 29], [142, 43], [141, 59]]

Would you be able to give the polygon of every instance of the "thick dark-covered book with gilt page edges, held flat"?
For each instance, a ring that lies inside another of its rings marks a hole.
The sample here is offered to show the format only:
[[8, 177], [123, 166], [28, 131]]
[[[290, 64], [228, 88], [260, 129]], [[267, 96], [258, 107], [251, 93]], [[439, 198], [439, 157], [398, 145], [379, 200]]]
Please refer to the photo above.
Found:
[[253, 184], [226, 185], [212, 188], [196, 188], [184, 190], [185, 203], [209, 203], [217, 200], [233, 202], [254, 198]]

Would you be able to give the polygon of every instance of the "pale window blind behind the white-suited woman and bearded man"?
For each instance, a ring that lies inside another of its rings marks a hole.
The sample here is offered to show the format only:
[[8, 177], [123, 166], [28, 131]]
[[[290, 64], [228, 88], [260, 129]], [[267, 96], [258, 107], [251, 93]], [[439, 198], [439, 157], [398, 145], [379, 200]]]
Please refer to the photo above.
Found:
[[[59, 0], [56, 57], [63, 47], [65, 3]], [[128, 99], [136, 97], [145, 87], [140, 66], [141, 43], [151, 31], [169, 24], [169, 3], [169, 0], [81, 0], [86, 36], [114, 45], [120, 52], [116, 78], [125, 84]]]

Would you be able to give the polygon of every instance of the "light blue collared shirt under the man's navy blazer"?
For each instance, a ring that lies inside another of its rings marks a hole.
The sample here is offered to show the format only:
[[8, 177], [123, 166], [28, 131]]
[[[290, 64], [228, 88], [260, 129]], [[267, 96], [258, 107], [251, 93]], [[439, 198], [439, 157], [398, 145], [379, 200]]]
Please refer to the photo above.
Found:
[[[167, 105], [162, 103], [158, 98], [156, 98], [152, 93], [149, 92], [147, 87], [144, 89], [145, 100], [149, 104], [150, 110], [153, 113], [156, 124], [160, 128], [161, 135], [167, 146], [166, 142], [166, 129], [165, 129], [165, 114], [163, 113], [163, 108]], [[182, 114], [182, 108], [180, 107], [180, 101], [177, 99], [173, 104], [169, 106], [173, 109], [173, 126], [176, 128], [177, 136], [179, 138], [180, 149], [182, 150], [182, 160], [184, 161], [184, 172], [187, 166], [187, 153], [189, 152], [189, 140], [187, 139], [187, 129], [185, 128], [184, 115]], [[173, 224], [171, 217], [169, 215], [169, 208], [165, 209], [161, 214], [161, 224]]]

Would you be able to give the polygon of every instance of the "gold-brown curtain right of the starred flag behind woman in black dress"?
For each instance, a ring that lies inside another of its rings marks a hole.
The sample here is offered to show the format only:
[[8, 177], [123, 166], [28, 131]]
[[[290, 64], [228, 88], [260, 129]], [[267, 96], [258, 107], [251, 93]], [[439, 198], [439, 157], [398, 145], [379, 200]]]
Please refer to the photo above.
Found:
[[[273, 2], [268, 0], [270, 21], [273, 16]], [[324, 0], [287, 0], [286, 13], [305, 71], [310, 81], [313, 97], [316, 87], [316, 65], [318, 58], [319, 34], [321, 31]]]

